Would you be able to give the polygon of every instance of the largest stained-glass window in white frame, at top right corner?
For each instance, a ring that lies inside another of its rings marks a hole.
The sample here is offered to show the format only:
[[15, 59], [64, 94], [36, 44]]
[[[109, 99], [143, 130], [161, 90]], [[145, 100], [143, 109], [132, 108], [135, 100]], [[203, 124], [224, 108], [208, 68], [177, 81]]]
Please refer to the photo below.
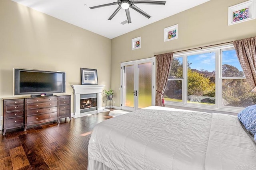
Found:
[[228, 25], [253, 20], [256, 17], [256, 0], [248, 0], [228, 7]]

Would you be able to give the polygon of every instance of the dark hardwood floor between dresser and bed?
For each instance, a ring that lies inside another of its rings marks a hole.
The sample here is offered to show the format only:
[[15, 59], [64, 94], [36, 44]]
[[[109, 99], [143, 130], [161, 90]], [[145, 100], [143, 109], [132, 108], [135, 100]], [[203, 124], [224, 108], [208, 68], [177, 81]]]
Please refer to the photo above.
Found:
[[108, 113], [1, 132], [0, 170], [87, 170], [91, 131]]

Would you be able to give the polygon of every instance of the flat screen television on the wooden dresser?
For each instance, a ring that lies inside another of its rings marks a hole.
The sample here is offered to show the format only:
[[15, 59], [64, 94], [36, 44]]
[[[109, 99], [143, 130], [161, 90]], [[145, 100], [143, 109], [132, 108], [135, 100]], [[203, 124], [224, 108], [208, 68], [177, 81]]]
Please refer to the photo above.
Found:
[[14, 95], [52, 96], [65, 92], [65, 72], [14, 68]]

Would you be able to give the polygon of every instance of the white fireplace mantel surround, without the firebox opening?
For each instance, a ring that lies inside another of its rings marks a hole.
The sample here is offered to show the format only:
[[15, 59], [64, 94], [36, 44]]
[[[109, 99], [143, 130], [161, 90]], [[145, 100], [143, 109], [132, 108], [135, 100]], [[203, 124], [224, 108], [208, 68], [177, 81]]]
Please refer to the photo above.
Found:
[[[105, 111], [102, 107], [102, 92], [105, 85], [71, 85], [74, 90], [74, 118]], [[97, 110], [80, 113], [80, 94], [97, 94]]]

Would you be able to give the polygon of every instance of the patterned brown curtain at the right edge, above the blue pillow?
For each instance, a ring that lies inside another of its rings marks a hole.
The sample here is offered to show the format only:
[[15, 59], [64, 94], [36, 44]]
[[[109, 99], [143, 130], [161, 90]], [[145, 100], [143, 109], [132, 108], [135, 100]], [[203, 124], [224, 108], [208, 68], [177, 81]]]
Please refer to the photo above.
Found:
[[233, 44], [246, 80], [253, 89], [256, 86], [256, 37], [233, 41]]

